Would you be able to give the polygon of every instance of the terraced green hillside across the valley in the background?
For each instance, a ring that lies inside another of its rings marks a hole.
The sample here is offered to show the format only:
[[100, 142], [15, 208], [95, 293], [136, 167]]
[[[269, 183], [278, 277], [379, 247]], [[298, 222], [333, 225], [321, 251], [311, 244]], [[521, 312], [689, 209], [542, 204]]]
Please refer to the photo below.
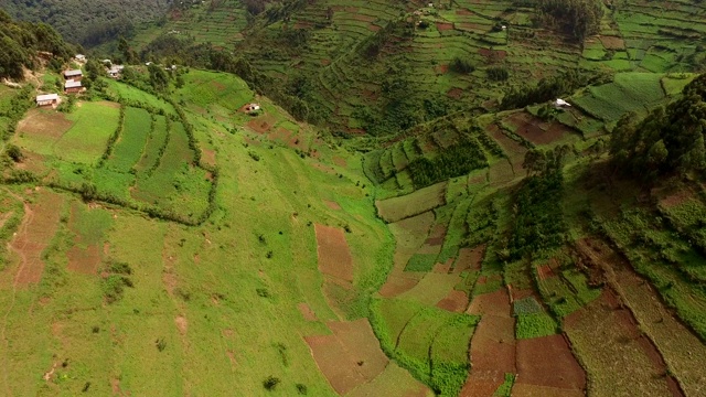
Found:
[[[691, 1], [666, 11], [612, 3], [598, 34], [584, 42], [537, 24], [534, 2], [284, 4], [245, 25], [242, 6], [205, 3], [137, 42], [179, 31], [236, 51], [256, 71], [289, 82], [281, 88], [306, 103], [310, 119], [325, 120], [334, 131], [373, 135], [398, 133], [454, 109], [494, 108], [511, 87], [526, 90], [567, 71], [579, 71], [581, 84], [589, 84], [619, 72], [703, 67], [706, 23]], [[176, 29], [181, 21], [188, 23]], [[494, 81], [494, 69], [506, 71], [507, 79]], [[569, 95], [581, 84], [555, 94]]]

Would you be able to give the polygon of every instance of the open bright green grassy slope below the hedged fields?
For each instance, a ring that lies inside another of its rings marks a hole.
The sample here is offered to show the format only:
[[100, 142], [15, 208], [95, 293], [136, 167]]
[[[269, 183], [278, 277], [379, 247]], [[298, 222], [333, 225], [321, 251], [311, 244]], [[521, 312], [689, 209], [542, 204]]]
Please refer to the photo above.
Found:
[[[242, 83], [235, 83], [232, 89], [242, 89]], [[288, 118], [266, 99], [263, 103], [276, 118]], [[325, 146], [319, 150], [320, 160], [302, 159], [282, 144], [246, 144], [249, 132], [231, 135], [222, 124], [195, 112], [188, 117], [199, 126], [204, 147], [216, 151], [222, 170], [218, 210], [200, 227], [111, 206], [101, 210], [113, 214], [107, 219], [115, 217], [96, 242], [103, 260], [125, 261], [133, 270], [135, 287], [126, 288], [113, 304], [104, 302], [105, 281], [99, 276], [66, 269], [73, 221], [62, 224], [54, 237], [58, 247], [47, 253], [47, 266], [56, 269], [61, 282], [13, 292], [18, 261], [11, 256], [12, 265], [0, 273], [0, 300], [8, 303], [15, 297], [14, 305], [4, 305], [2, 326], [7, 341], [18, 342], [3, 344], [0, 357], [3, 365], [23, 371], [0, 379], [2, 389], [15, 395], [74, 395], [90, 383], [95, 394], [110, 394], [114, 384], [133, 395], [258, 395], [265, 394], [263, 380], [275, 375], [284, 394], [296, 393], [295, 384], [301, 383], [309, 394], [333, 395], [302, 336], [328, 333], [323, 322], [339, 319], [336, 313], [364, 315], [370, 293], [364, 291], [382, 281], [385, 265], [378, 260], [389, 255], [386, 228], [375, 218], [366, 190], [356, 186], [360, 160]], [[309, 132], [301, 133], [303, 138]], [[351, 164], [334, 165], [342, 178], [313, 167], [332, 164], [333, 155]], [[329, 208], [322, 197], [338, 201], [343, 210]], [[71, 195], [65, 200], [85, 208]], [[65, 204], [57, 210], [68, 213], [67, 208]], [[357, 297], [352, 300], [336, 302], [336, 297], [331, 301], [322, 294], [312, 223], [352, 229], [346, 234], [356, 264]], [[258, 234], [266, 244], [258, 242]], [[104, 242], [109, 245], [103, 247]], [[45, 279], [51, 280], [46, 273]], [[268, 298], [258, 296], [263, 289]], [[40, 304], [43, 296], [49, 299]], [[308, 303], [319, 321], [306, 321], [297, 309], [300, 302]], [[163, 343], [162, 351], [157, 341]], [[286, 346], [286, 364], [276, 344]], [[56, 360], [66, 358], [67, 366], [58, 363], [52, 382], [41, 379]]]

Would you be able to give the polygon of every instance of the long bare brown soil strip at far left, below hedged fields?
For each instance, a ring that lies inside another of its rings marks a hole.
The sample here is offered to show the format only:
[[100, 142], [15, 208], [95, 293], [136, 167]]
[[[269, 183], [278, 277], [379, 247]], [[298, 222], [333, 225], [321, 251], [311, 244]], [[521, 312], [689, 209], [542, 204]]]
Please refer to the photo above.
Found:
[[58, 208], [63, 201], [63, 196], [42, 190], [34, 204], [24, 206], [22, 225], [11, 244], [12, 249], [20, 256], [20, 268], [15, 279], [18, 285], [38, 283], [42, 279], [42, 251], [56, 233]]

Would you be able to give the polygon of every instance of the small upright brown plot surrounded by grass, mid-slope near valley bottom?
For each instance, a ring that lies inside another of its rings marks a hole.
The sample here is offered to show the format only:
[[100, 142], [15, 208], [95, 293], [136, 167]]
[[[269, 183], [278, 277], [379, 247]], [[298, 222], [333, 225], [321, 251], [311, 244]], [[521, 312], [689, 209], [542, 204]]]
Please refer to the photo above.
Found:
[[343, 229], [315, 224], [314, 230], [319, 270], [341, 280], [353, 281], [353, 258]]

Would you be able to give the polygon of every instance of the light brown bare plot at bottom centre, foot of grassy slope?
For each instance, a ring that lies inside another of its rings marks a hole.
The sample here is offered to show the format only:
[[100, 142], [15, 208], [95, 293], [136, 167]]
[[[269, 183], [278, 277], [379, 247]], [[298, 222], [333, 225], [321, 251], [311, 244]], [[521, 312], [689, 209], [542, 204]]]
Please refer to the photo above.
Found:
[[306, 336], [311, 354], [331, 387], [344, 395], [373, 380], [388, 363], [366, 319], [329, 322], [333, 335]]

